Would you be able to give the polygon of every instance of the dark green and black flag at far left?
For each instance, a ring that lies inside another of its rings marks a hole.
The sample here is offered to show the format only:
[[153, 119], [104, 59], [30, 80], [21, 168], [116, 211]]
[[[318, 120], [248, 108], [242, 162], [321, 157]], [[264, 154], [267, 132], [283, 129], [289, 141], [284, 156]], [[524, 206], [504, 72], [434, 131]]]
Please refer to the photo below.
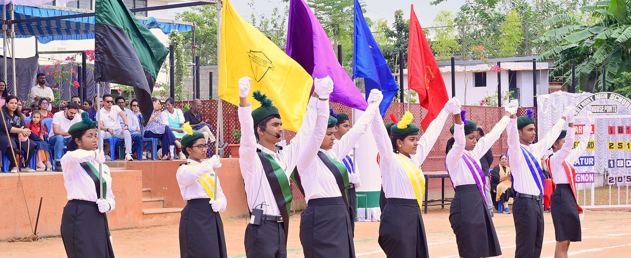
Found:
[[168, 49], [123, 0], [95, 4], [95, 81], [133, 86], [143, 124], [151, 117], [151, 92]]

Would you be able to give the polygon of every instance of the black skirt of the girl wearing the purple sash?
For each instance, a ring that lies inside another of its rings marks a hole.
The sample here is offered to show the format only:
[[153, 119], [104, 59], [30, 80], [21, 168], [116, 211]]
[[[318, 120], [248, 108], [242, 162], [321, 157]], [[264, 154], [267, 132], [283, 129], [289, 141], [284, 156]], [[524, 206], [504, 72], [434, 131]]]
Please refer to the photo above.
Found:
[[451, 201], [449, 223], [456, 234], [458, 254], [464, 258], [502, 255], [490, 211], [478, 186], [458, 185]]

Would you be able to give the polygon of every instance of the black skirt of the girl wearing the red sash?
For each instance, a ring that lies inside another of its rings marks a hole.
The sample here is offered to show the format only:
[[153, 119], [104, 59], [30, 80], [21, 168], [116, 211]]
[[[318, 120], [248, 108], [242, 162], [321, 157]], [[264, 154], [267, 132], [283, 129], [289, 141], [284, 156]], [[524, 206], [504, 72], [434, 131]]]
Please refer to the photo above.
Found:
[[550, 196], [550, 207], [557, 241], [581, 241], [579, 208], [570, 184], [557, 184], [557, 189]]

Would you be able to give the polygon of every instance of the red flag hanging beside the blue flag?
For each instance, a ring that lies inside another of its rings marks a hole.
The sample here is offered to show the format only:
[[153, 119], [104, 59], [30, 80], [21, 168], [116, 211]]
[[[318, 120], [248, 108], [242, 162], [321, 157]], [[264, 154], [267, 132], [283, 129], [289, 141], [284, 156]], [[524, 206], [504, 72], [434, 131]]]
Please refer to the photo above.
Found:
[[449, 97], [432, 49], [427, 43], [423, 28], [416, 19], [413, 4], [410, 13], [410, 42], [408, 45], [408, 88], [418, 92], [421, 107], [427, 109], [427, 115], [421, 122], [423, 131], [425, 131], [430, 122], [445, 107]]

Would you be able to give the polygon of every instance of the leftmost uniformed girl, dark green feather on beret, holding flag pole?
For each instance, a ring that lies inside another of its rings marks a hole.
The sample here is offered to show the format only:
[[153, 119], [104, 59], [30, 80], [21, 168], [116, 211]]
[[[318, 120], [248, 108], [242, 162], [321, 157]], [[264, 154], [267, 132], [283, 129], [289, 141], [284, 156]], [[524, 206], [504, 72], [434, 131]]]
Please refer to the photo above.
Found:
[[[83, 112], [81, 121], [68, 129], [72, 138], [61, 158], [69, 200], [61, 216], [61, 238], [68, 258], [114, 258], [105, 213], [112, 211], [116, 202], [110, 169], [103, 164], [105, 155], [97, 151], [96, 126], [88, 112]], [[103, 180], [99, 179], [98, 164]]]

